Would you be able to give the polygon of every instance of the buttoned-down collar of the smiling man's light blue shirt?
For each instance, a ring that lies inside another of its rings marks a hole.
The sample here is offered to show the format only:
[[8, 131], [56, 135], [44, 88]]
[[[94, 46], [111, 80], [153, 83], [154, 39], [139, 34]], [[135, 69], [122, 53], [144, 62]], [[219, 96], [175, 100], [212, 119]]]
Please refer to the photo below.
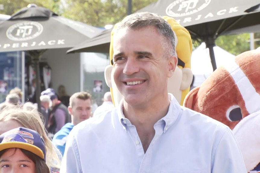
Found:
[[[164, 116], [162, 119], [160, 119], [158, 121], [158, 122], [163, 121], [165, 123], [164, 128], [163, 128], [164, 133], [176, 121], [176, 119], [179, 116], [180, 110], [181, 110], [181, 106], [179, 105], [178, 101], [173, 96], [173, 94], [168, 93], [168, 95], [169, 95], [169, 99], [171, 100], [170, 106], [169, 106], [169, 109], [168, 109], [168, 113], [166, 114], [166, 116]], [[125, 116], [123, 114], [123, 99], [119, 103], [119, 107], [117, 109], [117, 115], [118, 115], [118, 118], [119, 118], [119, 122], [121, 123], [122, 127], [126, 131], [126, 126], [132, 125], [132, 123], [127, 118], [125, 118]]]

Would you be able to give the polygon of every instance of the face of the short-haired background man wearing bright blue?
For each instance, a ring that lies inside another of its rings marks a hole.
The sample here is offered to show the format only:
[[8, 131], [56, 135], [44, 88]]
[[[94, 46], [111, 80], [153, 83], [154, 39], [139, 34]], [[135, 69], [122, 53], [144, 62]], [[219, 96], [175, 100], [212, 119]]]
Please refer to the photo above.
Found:
[[72, 107], [68, 107], [68, 111], [72, 115], [74, 125], [77, 125], [78, 123], [89, 119], [91, 115], [90, 99], [82, 100], [79, 98], [75, 98], [73, 100]]

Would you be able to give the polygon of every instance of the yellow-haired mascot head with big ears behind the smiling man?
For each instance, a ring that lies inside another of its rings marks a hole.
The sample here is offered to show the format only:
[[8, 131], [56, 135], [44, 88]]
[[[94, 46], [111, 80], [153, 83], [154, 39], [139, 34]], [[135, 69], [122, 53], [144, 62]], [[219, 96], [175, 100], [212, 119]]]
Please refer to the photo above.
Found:
[[[173, 94], [176, 100], [182, 105], [185, 96], [189, 93], [190, 84], [192, 82], [191, 71], [191, 54], [192, 54], [192, 39], [187, 29], [182, 27], [175, 19], [171, 17], [163, 17], [172, 27], [176, 36], [176, 54], [178, 57], [178, 66], [174, 75], [168, 79], [168, 92]], [[105, 69], [105, 81], [110, 87], [114, 106], [118, 106], [122, 99], [121, 93], [118, 91], [113, 80], [113, 34], [118, 23], [114, 26], [111, 32], [110, 42], [110, 65]]]

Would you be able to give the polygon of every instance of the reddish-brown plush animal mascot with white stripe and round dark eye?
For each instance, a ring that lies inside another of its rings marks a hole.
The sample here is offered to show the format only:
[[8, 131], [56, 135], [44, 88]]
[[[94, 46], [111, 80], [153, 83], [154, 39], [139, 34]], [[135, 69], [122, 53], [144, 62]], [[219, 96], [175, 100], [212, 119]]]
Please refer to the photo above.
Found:
[[260, 172], [260, 49], [247, 51], [220, 66], [192, 89], [184, 106], [229, 126], [246, 169]]

